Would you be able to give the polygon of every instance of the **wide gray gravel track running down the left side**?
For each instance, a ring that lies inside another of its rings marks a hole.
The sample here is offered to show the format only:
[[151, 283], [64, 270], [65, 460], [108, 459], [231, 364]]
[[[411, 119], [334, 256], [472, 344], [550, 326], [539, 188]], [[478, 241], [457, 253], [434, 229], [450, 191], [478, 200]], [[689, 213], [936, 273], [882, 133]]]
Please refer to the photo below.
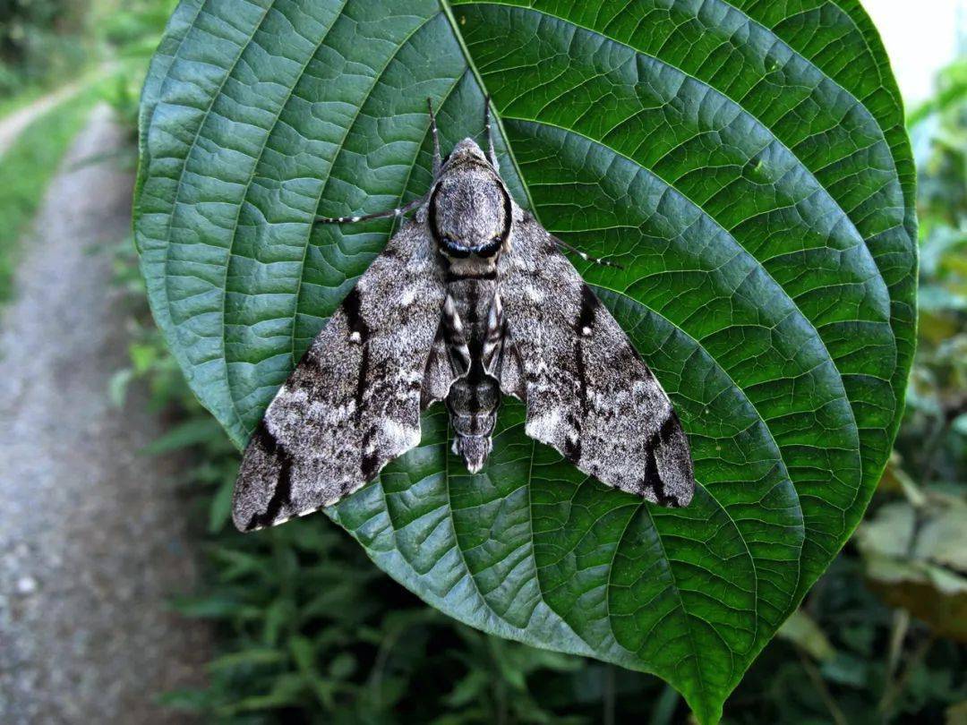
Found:
[[165, 723], [160, 691], [199, 684], [206, 630], [166, 611], [194, 569], [174, 461], [138, 456], [160, 424], [132, 394], [110, 250], [132, 175], [100, 108], [47, 193], [0, 324], [0, 721]]

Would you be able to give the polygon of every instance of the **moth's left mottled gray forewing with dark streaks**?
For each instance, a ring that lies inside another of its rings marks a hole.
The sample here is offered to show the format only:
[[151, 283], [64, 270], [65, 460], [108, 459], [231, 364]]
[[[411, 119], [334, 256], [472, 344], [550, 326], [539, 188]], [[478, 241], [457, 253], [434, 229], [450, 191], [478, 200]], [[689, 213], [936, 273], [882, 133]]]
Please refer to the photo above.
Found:
[[[420, 442], [425, 367], [444, 296], [425, 223], [409, 221], [360, 277], [255, 429], [235, 483], [232, 517], [239, 529], [334, 504]], [[436, 389], [444, 385], [434, 382]]]

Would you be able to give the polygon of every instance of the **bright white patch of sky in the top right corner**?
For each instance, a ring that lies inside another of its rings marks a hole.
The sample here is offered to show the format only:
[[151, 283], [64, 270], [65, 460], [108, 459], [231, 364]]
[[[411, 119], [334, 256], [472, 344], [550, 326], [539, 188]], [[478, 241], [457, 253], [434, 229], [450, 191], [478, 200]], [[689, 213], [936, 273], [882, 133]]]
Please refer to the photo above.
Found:
[[887, 47], [908, 108], [930, 98], [934, 77], [967, 51], [967, 0], [863, 0]]

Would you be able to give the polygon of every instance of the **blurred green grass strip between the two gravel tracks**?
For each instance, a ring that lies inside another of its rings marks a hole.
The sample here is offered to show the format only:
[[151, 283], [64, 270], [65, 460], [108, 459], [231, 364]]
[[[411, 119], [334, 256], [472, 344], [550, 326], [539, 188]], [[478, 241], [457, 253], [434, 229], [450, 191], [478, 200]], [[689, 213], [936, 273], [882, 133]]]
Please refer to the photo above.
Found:
[[98, 100], [94, 88], [47, 111], [28, 126], [0, 158], [0, 304], [13, 295], [23, 238], [60, 161]]

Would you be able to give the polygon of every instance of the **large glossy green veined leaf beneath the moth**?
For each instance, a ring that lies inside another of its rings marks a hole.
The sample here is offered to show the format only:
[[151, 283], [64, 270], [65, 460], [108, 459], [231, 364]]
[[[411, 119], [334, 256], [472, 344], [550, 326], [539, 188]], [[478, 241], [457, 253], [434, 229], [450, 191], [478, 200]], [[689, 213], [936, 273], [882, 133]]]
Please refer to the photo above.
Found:
[[852, 0], [185, 0], [142, 105], [156, 318], [243, 445], [391, 231], [315, 227], [430, 181], [499, 115], [502, 167], [689, 432], [692, 505], [643, 505], [522, 432], [466, 475], [424, 444], [330, 515], [433, 606], [658, 674], [703, 722], [855, 528], [914, 341], [914, 177]]

